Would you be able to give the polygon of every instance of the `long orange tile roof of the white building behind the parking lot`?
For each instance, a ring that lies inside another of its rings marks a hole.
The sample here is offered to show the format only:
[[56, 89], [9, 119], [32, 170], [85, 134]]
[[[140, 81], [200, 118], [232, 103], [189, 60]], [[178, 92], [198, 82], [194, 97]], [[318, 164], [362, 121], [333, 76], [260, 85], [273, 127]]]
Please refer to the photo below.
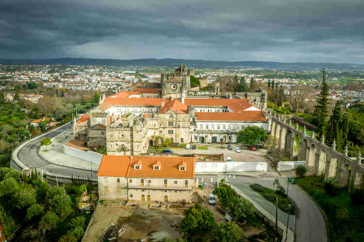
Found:
[[195, 113], [197, 121], [248, 121], [266, 122], [262, 111], [243, 111], [241, 113]]

